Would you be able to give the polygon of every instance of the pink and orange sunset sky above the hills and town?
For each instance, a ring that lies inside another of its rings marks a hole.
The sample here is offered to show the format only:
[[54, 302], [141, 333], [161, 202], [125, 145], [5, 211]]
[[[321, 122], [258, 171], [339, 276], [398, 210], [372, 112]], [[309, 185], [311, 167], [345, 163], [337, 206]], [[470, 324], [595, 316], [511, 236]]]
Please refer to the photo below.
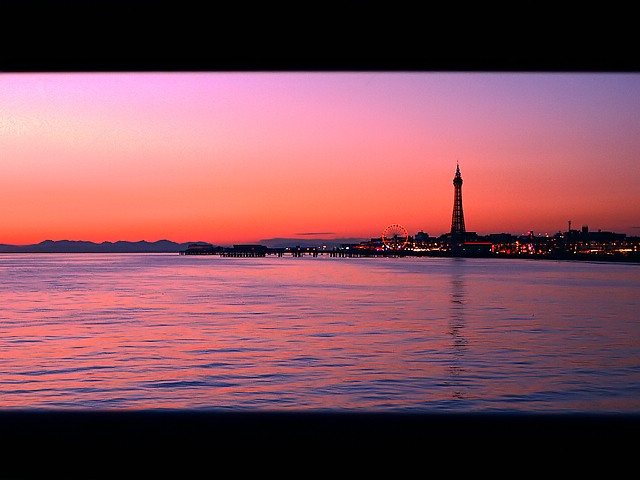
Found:
[[0, 243], [640, 235], [640, 74], [0, 73]]

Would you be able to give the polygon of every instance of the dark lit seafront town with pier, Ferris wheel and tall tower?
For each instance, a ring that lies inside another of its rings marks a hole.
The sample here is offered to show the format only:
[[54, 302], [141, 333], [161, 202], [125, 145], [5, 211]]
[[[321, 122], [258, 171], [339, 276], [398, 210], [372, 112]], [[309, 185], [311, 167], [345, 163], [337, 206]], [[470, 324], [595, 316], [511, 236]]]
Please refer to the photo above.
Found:
[[192, 243], [181, 255], [220, 255], [224, 257], [265, 257], [267, 255], [313, 257], [500, 257], [545, 258], [572, 260], [640, 261], [640, 237], [602, 230], [590, 231], [587, 225], [581, 229], [568, 228], [555, 235], [525, 235], [492, 233], [478, 235], [465, 226], [462, 204], [462, 174], [456, 165], [453, 178], [454, 203], [451, 230], [437, 237], [420, 231], [415, 235], [400, 224], [388, 225], [380, 237], [360, 243], [342, 243], [339, 246], [268, 246], [263, 244], [238, 244], [233, 247], [214, 246], [209, 243]]

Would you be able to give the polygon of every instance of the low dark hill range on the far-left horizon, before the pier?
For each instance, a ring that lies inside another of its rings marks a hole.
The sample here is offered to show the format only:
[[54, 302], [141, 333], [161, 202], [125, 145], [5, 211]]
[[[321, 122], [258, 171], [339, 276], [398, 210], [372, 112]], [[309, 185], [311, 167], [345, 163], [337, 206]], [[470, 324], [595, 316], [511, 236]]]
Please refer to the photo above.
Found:
[[156, 242], [117, 241], [117, 242], [85, 242], [78, 240], [45, 240], [35, 245], [3, 245], [0, 253], [178, 253], [192, 243], [176, 243], [170, 240]]

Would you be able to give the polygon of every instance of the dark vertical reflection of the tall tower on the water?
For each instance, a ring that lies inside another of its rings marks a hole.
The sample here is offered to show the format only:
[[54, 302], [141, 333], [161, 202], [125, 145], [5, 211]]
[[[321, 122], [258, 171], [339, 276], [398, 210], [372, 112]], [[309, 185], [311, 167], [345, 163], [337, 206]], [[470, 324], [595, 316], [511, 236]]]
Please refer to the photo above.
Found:
[[453, 387], [452, 396], [456, 399], [466, 399], [464, 388], [464, 355], [467, 349], [467, 339], [464, 335], [465, 329], [465, 304], [466, 284], [464, 275], [464, 258], [455, 258], [450, 279], [451, 301], [449, 329], [447, 333], [451, 335], [451, 364], [449, 365], [449, 374], [451, 377], [451, 385]]

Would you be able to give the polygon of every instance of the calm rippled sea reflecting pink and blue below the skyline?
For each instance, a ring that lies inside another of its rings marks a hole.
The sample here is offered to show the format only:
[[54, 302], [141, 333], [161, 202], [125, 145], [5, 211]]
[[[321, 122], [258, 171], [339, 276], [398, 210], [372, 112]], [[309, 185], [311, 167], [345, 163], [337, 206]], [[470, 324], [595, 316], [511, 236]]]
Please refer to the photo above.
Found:
[[0, 255], [0, 408], [640, 413], [640, 265]]

